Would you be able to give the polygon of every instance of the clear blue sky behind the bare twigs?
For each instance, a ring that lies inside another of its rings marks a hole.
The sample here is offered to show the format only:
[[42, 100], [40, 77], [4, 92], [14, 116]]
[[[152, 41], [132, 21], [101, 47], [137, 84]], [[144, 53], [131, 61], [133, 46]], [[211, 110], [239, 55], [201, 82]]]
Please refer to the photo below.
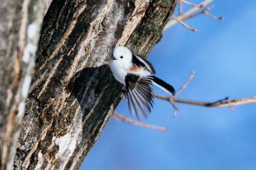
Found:
[[[194, 1], [199, 2], [199, 1]], [[179, 89], [191, 71], [195, 77], [179, 95], [216, 101], [256, 95], [256, 1], [214, 1], [211, 13], [186, 21], [197, 32], [176, 25], [150, 53], [156, 75]], [[154, 88], [156, 93], [164, 92]], [[256, 169], [256, 103], [230, 108], [179, 104], [177, 118], [166, 101], [154, 99], [144, 122], [167, 132], [132, 126], [113, 118], [81, 169]], [[121, 101], [117, 112], [130, 118]]]

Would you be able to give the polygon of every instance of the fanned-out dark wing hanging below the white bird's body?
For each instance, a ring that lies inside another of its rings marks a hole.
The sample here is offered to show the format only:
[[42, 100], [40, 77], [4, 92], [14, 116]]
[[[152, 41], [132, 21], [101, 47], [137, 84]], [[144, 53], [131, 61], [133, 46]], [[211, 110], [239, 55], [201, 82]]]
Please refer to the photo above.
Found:
[[129, 110], [131, 115], [136, 114], [139, 120], [141, 120], [142, 114], [147, 118], [153, 106], [152, 79], [152, 76], [139, 77], [132, 73], [125, 77], [125, 95], [128, 99]]

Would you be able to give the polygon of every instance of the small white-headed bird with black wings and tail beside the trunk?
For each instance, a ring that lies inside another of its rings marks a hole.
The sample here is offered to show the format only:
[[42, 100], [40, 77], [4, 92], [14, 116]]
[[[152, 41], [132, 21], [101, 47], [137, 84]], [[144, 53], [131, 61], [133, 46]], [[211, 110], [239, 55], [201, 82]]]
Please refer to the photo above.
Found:
[[154, 76], [156, 71], [145, 57], [134, 54], [125, 46], [114, 48], [109, 65], [115, 79], [125, 85], [125, 97], [128, 99], [131, 116], [136, 114], [139, 120], [142, 114], [148, 118], [153, 108], [152, 85], [175, 94], [174, 87]]

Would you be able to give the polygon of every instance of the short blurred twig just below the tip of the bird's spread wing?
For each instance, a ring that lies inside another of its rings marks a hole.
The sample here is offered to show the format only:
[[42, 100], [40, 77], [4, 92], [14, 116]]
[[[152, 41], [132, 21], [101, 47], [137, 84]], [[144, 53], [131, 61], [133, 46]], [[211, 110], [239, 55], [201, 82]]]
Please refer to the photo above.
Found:
[[156, 126], [156, 125], [145, 124], [145, 123], [142, 123], [142, 122], [137, 122], [135, 120], [131, 120], [129, 118], [126, 118], [125, 116], [122, 116], [121, 114], [118, 114], [117, 112], [114, 112], [113, 116], [114, 116], [114, 118], [117, 118], [117, 120], [123, 120], [123, 122], [127, 122], [129, 124], [134, 124], [134, 125], [137, 125], [137, 126], [143, 126], [143, 127], [146, 127], [146, 128], [153, 128], [153, 129], [162, 130], [162, 131], [168, 130], [168, 128], [166, 128], [164, 126]]

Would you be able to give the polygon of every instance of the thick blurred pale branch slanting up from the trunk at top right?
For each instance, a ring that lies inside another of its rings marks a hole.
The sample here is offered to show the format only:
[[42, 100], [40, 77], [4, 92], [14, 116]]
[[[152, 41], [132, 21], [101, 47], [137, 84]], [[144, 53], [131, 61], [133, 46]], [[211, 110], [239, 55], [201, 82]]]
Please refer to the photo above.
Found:
[[[212, 1], [214, 1], [214, 0], [205, 0], [205, 1], [203, 1], [202, 3], [200, 3], [199, 5], [202, 5], [203, 7], [205, 7], [205, 5], [211, 3]], [[187, 12], [185, 12], [185, 13], [179, 14], [179, 15], [177, 16], [177, 18], [179, 19], [179, 21], [182, 21], [182, 20], [184, 20], [185, 17], [191, 15], [192, 13], [195, 13], [197, 10], [199, 10], [198, 7], [193, 7], [192, 9], [189, 9], [189, 11], [187, 11]], [[174, 24], [177, 24], [177, 20], [175, 20], [175, 19], [170, 20], [170, 21], [166, 24], [166, 26], [164, 27], [164, 30], [166, 30], [166, 29], [168, 29], [168, 28], [174, 26]]]

